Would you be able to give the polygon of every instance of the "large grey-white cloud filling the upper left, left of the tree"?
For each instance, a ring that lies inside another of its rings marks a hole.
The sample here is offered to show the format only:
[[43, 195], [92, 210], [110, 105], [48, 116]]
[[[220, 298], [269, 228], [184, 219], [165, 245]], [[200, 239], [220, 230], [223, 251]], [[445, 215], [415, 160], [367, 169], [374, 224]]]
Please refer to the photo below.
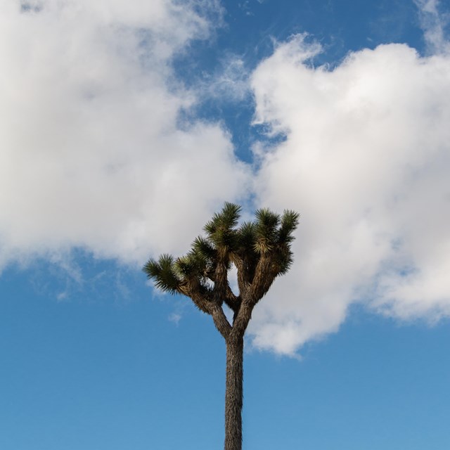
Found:
[[172, 70], [220, 19], [215, 1], [1, 1], [0, 266], [141, 263], [245, 192], [226, 131], [180, 120], [196, 99]]

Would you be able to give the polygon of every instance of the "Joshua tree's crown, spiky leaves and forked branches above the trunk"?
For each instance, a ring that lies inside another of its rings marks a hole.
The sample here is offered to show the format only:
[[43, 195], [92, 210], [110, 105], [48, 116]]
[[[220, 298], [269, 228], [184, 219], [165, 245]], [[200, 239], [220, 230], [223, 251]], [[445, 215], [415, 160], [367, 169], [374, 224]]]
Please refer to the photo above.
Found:
[[[205, 236], [195, 238], [186, 255], [161, 255], [143, 266], [157, 288], [191, 297], [199, 309], [212, 314], [216, 326], [217, 307], [221, 310], [225, 302], [234, 311], [235, 321], [243, 304], [251, 314], [274, 279], [293, 263], [290, 247], [299, 223], [297, 212], [285, 210], [280, 215], [262, 208], [255, 212], [254, 221], [239, 224], [240, 211], [239, 205], [225, 203], [205, 225]], [[231, 264], [238, 271], [239, 295], [229, 286]]]

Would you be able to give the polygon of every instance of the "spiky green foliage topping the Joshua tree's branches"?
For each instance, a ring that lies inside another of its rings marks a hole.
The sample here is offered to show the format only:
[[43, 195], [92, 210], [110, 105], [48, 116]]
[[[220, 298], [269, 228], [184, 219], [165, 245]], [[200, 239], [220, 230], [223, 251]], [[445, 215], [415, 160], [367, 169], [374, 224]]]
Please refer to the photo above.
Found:
[[280, 215], [264, 208], [257, 210], [255, 221], [238, 226], [239, 218], [240, 206], [225, 203], [221, 212], [205, 225], [205, 237], [195, 238], [187, 255], [178, 259], [162, 255], [158, 261], [150, 258], [143, 270], [157, 288], [170, 293], [186, 293], [186, 285], [195, 285], [198, 293], [210, 293], [211, 282], [223, 274], [219, 269], [229, 270], [231, 262], [242, 272], [241, 279], [249, 284], [263, 257], [270, 262], [266, 269], [270, 273], [266, 276], [273, 279], [285, 274], [293, 262], [290, 244], [299, 214], [285, 210]]

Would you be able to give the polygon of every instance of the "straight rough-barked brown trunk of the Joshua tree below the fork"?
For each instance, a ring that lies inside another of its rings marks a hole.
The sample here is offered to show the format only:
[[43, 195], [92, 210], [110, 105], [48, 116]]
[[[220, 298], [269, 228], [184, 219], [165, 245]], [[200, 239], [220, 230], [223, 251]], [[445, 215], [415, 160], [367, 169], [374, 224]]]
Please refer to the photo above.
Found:
[[242, 449], [243, 337], [226, 340], [225, 447]]

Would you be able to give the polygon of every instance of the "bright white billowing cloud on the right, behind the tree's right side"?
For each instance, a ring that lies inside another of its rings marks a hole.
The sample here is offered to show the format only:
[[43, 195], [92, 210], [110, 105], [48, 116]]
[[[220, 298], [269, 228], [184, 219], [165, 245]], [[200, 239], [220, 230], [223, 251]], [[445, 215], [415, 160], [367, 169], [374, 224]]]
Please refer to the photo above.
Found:
[[252, 76], [259, 203], [302, 215], [296, 262], [255, 311], [253, 343], [290, 354], [337, 330], [349, 305], [450, 316], [450, 56], [401, 44], [314, 68], [297, 36]]

